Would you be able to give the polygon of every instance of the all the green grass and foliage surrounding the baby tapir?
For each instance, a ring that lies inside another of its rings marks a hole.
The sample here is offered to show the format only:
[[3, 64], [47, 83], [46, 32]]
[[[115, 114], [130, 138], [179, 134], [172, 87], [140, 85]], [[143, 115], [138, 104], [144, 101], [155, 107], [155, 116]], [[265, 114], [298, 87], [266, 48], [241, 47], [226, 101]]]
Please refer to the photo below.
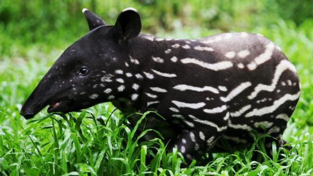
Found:
[[[312, 175], [313, 10], [309, 3], [0, 1], [0, 175]], [[19, 115], [22, 102], [59, 54], [88, 31], [81, 9], [95, 10], [114, 24], [119, 11], [130, 6], [139, 10], [143, 30], [160, 37], [247, 31], [261, 33], [280, 46], [296, 65], [302, 87], [283, 136], [293, 149], [273, 145], [273, 156], [267, 156], [260, 136], [251, 148], [210, 154], [201, 165], [198, 161], [181, 168], [183, 158], [177, 151], [165, 152], [160, 139], [137, 140], [136, 129], [122, 124], [126, 117], [113, 112], [110, 103], [68, 115], [48, 115], [43, 110], [24, 120]], [[151, 163], [148, 153], [154, 156]], [[252, 153], [259, 154], [258, 160], [252, 160]]]

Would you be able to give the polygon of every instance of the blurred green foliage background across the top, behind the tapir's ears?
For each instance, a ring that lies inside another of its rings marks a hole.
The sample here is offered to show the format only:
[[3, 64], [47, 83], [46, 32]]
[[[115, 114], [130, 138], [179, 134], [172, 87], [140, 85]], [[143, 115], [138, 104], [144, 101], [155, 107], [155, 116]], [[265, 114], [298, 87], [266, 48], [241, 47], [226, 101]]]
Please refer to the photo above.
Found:
[[[262, 31], [280, 23], [311, 27], [311, 0], [16, 0], [0, 1], [0, 56], [16, 52], [22, 56], [33, 44], [40, 48], [62, 48], [83, 36], [88, 27], [81, 10], [87, 8], [113, 25], [118, 13], [136, 8], [143, 31], [174, 37], [198, 38], [227, 31]], [[311, 36], [311, 31], [307, 32]], [[186, 34], [188, 33], [188, 34]], [[288, 33], [285, 33], [288, 35]]]

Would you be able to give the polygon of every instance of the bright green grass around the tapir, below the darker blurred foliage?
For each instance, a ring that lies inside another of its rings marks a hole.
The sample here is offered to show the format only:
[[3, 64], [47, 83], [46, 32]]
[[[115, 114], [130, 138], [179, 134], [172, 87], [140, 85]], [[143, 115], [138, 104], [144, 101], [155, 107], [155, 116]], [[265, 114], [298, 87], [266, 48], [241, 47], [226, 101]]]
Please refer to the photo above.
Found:
[[[221, 32], [175, 25], [170, 33], [158, 30], [158, 36], [197, 38]], [[28, 45], [22, 54], [16, 47], [0, 59], [0, 175], [313, 175], [311, 26], [313, 21], [309, 20], [300, 26], [278, 20], [270, 26], [249, 29], [280, 46], [298, 70], [301, 97], [283, 135], [292, 150], [273, 145], [273, 156], [267, 156], [264, 136], [260, 136], [251, 148], [207, 154], [209, 159], [201, 165], [193, 162], [187, 168], [181, 168], [183, 158], [176, 150], [165, 151], [167, 144], [161, 139], [139, 143], [149, 129], [136, 136], [136, 127], [126, 123], [131, 117], [114, 111], [111, 103], [67, 115], [48, 115], [43, 110], [34, 119], [24, 120], [19, 115], [22, 102], [66, 45], [58, 49]], [[148, 113], [153, 112], [144, 113], [141, 120]], [[154, 156], [151, 163], [146, 162], [147, 153]], [[252, 154], [259, 155], [256, 161]]]

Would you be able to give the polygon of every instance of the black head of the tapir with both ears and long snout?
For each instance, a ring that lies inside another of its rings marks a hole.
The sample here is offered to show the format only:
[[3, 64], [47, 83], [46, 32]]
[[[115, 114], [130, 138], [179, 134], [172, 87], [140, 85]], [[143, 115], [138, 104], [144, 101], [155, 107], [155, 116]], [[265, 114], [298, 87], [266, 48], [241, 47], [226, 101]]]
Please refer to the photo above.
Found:
[[110, 26], [87, 9], [83, 14], [90, 31], [67, 48], [42, 78], [23, 104], [20, 114], [25, 119], [33, 118], [47, 105], [49, 113], [68, 113], [116, 96], [109, 87], [117, 86], [113, 79], [120, 74], [123, 60], [129, 58], [130, 41], [140, 33], [140, 16], [128, 8]]

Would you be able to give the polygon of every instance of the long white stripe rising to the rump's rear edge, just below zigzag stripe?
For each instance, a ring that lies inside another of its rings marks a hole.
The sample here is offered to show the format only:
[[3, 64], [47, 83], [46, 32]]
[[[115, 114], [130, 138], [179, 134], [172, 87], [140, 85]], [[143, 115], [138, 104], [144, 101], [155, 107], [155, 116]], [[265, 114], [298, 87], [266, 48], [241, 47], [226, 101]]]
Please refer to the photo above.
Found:
[[275, 100], [273, 102], [273, 105], [270, 107], [264, 107], [261, 109], [254, 109], [253, 111], [247, 113], [245, 117], [252, 117], [252, 116], [262, 116], [264, 114], [269, 114], [274, 112], [281, 104], [284, 104], [286, 101], [291, 100], [297, 100], [299, 98], [300, 92], [296, 94], [285, 94], [283, 97], [279, 98], [278, 100]]

